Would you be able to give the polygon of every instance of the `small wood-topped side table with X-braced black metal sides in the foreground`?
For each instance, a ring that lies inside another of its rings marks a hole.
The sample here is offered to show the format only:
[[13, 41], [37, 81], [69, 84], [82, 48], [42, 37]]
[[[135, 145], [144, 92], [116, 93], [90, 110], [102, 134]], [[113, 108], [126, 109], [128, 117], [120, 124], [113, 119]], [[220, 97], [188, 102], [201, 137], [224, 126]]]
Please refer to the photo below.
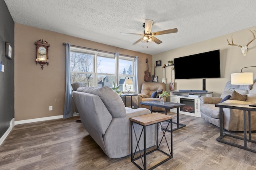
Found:
[[[170, 130], [170, 135], [171, 135], [171, 137], [170, 137], [170, 146], [168, 145], [168, 142], [167, 142], [167, 139], [166, 139], [166, 136], [165, 136], [167, 128], [164, 131], [164, 128], [162, 127], [162, 125], [160, 123], [160, 122], [163, 122], [163, 121], [168, 121], [169, 122], [167, 127], [170, 125], [170, 129], [171, 129]], [[137, 123], [138, 125], [143, 126], [139, 139], [137, 139], [136, 132], [134, 131], [134, 125], [133, 125], [134, 123]], [[156, 149], [151, 150], [150, 152], [147, 153], [146, 152], [146, 126], [153, 125], [153, 124], [156, 124], [156, 126], [157, 126], [157, 128], [156, 128]], [[163, 136], [162, 136], [162, 139], [161, 139], [160, 143], [158, 144], [158, 130], [157, 129], [158, 129], [159, 125], [161, 126]], [[172, 116], [164, 115], [162, 113], [151, 113], [151, 114], [140, 115], [140, 116], [136, 116], [136, 117], [130, 117], [130, 131], [131, 131], [131, 161], [132, 161], [133, 164], [135, 164], [141, 170], [143, 170], [143, 169], [146, 170], [147, 169], [146, 155], [148, 155], [148, 154], [150, 154], [150, 153], [152, 153], [156, 150], [159, 150], [160, 152], [166, 154], [168, 157], [166, 159], [162, 160], [161, 162], [159, 162], [158, 164], [149, 168], [149, 170], [152, 170], [152, 169], [156, 168], [160, 164], [162, 164], [162, 163], [164, 163], [167, 160], [172, 158], [172, 156], [173, 156], [173, 152], [172, 152]], [[133, 131], [135, 133], [135, 137], [136, 137], [136, 141], [137, 141], [137, 145], [136, 145], [136, 149], [135, 149], [134, 153], [132, 152], [133, 151], [133, 149], [132, 149], [132, 146], [133, 146], [132, 145], [132, 133], [133, 133]], [[139, 147], [139, 142], [140, 142], [142, 134], [144, 136], [144, 154], [141, 153], [141, 150], [140, 150], [140, 147]], [[164, 152], [161, 149], [159, 149], [163, 138], [165, 138], [165, 141], [166, 141], [166, 144], [168, 146], [168, 150], [169, 150], [170, 154]], [[171, 149], [170, 149], [170, 147], [171, 147]], [[138, 151], [140, 152], [140, 156], [138, 156], [137, 158], [134, 158], [137, 148], [138, 148]], [[142, 158], [143, 156], [144, 156], [144, 162], [143, 162], [143, 158]], [[138, 159], [141, 159], [142, 164], [143, 164], [143, 168], [140, 167], [136, 162], [134, 162], [135, 160], [138, 160]]]

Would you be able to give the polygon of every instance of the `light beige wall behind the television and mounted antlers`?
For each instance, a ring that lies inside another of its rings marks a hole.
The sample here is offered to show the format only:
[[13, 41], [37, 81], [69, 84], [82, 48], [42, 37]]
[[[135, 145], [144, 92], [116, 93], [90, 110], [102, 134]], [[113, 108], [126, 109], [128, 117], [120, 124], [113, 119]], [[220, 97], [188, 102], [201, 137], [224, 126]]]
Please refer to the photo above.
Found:
[[[256, 30], [256, 26], [249, 29]], [[163, 66], [168, 60], [173, 60], [174, 58], [220, 49], [221, 78], [206, 78], [206, 90], [208, 90], [208, 92], [214, 92], [214, 97], [220, 97], [226, 82], [230, 80], [231, 73], [240, 72], [241, 68], [246, 66], [256, 65], [256, 40], [248, 45], [249, 51], [246, 54], [246, 57], [244, 57], [240, 51], [240, 47], [228, 45], [227, 39], [231, 42], [232, 34], [234, 43], [242, 46], [246, 45], [253, 38], [252, 33], [248, 31], [248, 29], [244, 29], [228, 35], [153, 55], [153, 63], [161, 60]], [[210, 59], [208, 64], [211, 64]], [[165, 70], [167, 78], [166, 89], [169, 89], [169, 83], [171, 82], [170, 68], [170, 66], [166, 67]], [[184, 71], [193, 70], [186, 70], [186, 65], [184, 65]], [[162, 67], [156, 67], [156, 72], [159, 76], [158, 80], [161, 80]], [[255, 77], [256, 68], [245, 68], [243, 69], [243, 72], [254, 72]], [[175, 80], [175, 90], [202, 90], [202, 79]]]

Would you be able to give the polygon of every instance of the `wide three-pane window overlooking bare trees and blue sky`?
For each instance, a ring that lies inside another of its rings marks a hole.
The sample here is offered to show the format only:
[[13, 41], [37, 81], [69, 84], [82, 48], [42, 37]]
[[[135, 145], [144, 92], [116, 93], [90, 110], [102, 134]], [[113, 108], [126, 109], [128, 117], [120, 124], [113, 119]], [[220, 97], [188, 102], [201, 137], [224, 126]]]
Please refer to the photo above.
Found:
[[88, 87], [108, 86], [111, 88], [120, 85], [120, 91], [134, 92], [134, 83], [124, 83], [128, 77], [134, 82], [134, 57], [76, 47], [70, 49], [71, 83], [84, 82]]

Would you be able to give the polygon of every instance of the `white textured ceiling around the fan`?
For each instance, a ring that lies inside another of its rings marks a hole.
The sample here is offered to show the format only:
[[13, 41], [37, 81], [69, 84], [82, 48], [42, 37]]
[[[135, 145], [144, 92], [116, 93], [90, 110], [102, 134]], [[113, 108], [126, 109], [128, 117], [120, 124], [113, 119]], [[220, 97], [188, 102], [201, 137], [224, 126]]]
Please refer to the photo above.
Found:
[[[255, 0], [4, 0], [16, 23], [147, 54], [157, 54], [256, 25]], [[163, 41], [137, 43], [145, 19]], [[75, 45], [75, 44], [74, 44]]]

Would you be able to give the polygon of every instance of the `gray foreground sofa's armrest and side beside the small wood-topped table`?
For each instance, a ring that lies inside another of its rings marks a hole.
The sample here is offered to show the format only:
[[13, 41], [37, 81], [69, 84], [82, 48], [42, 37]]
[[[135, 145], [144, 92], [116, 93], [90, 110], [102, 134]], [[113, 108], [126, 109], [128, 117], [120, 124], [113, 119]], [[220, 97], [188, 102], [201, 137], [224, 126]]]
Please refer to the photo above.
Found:
[[[104, 145], [110, 158], [120, 158], [131, 154], [130, 152], [130, 117], [139, 115], [150, 114], [150, 110], [146, 108], [138, 109], [126, 109], [126, 117], [113, 118], [105, 135], [103, 136]], [[136, 123], [133, 124], [136, 136], [142, 131], [142, 126]], [[160, 126], [159, 126], [160, 127]], [[159, 131], [160, 132], [160, 131]], [[160, 134], [160, 133], [158, 133]], [[156, 145], [156, 125], [149, 125], [146, 127], [146, 147], [152, 147]], [[136, 148], [136, 137], [133, 133], [133, 152]], [[143, 142], [140, 141], [141, 148]], [[137, 150], [138, 151], [138, 150]]]

